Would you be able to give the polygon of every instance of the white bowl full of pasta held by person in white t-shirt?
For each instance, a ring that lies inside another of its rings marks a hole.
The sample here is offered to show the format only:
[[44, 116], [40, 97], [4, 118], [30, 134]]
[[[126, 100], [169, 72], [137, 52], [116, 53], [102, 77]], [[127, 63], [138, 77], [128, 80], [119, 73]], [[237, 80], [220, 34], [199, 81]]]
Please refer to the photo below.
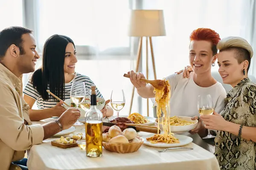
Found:
[[[163, 118], [160, 118], [159, 124], [161, 130], [163, 130], [162, 119]], [[191, 117], [188, 116], [172, 116], [169, 117], [168, 123], [170, 123], [172, 133], [183, 133], [195, 129], [198, 124], [198, 120], [191, 120]], [[154, 124], [157, 127], [157, 119]]]

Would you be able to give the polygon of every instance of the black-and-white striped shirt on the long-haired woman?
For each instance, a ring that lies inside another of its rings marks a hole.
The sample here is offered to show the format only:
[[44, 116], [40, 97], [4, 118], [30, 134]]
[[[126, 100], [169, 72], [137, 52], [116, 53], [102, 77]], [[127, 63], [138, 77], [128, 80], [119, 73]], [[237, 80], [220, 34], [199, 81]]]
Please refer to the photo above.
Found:
[[[72, 83], [74, 81], [84, 82], [87, 95], [88, 95], [88, 92], [90, 91], [90, 87], [95, 86], [95, 84], [89, 77], [76, 73], [75, 77], [73, 78], [73, 80], [71, 80], [71, 82], [65, 83], [65, 88], [64, 88], [65, 100], [70, 99], [70, 90], [72, 87]], [[48, 89], [49, 89], [49, 86], [48, 86]], [[38, 93], [34, 85], [32, 84], [31, 78], [27, 82], [23, 93], [36, 100], [38, 109], [52, 108], [58, 103], [58, 101], [56, 101], [55, 99], [44, 100], [42, 96]], [[96, 88], [96, 96], [103, 98], [102, 94], [99, 92], [97, 88]]]

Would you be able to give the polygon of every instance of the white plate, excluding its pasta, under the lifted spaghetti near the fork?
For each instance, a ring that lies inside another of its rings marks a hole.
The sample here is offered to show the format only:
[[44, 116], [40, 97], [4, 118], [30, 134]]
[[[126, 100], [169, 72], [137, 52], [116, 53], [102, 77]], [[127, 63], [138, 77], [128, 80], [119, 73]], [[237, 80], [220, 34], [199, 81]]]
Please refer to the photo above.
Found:
[[179, 147], [179, 146], [184, 146], [186, 144], [190, 144], [193, 141], [193, 139], [189, 136], [175, 134], [175, 137], [177, 139], [179, 139], [180, 143], [166, 144], [166, 143], [159, 142], [159, 143], [156, 143], [156, 144], [152, 144], [149, 141], [147, 141], [147, 139], [146, 139], [146, 138], [149, 138], [151, 136], [153, 136], [153, 135], [142, 136], [144, 138], [144, 143], [143, 144], [148, 145], [148, 146], [152, 146], [152, 147]]

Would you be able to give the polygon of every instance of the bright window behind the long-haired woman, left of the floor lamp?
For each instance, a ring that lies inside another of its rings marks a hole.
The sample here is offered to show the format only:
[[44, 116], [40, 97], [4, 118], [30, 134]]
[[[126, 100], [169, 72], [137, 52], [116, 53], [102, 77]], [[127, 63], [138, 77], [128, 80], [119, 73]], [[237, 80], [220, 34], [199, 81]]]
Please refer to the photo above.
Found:
[[[129, 48], [128, 0], [40, 0], [39, 45], [53, 34], [70, 37], [76, 46], [98, 53]], [[88, 54], [88, 50], [84, 51]], [[78, 50], [78, 53], [81, 51]]]

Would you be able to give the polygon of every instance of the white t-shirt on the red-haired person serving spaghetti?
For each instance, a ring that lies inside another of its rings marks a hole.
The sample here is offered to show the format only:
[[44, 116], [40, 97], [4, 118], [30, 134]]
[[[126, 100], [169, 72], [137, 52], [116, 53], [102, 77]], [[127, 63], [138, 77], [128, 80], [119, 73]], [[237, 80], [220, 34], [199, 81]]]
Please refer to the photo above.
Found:
[[[198, 113], [198, 96], [210, 94], [212, 96], [213, 108], [217, 113], [224, 109], [224, 99], [227, 94], [220, 82], [214, 85], [203, 88], [195, 84], [193, 72], [190, 72], [189, 78], [183, 78], [182, 74], [172, 74], [166, 77], [171, 86], [170, 110], [171, 116], [199, 116]], [[155, 103], [154, 98], [151, 99]], [[186, 136], [191, 136], [193, 142], [199, 146], [212, 151], [209, 145], [201, 139], [198, 134], [191, 135], [183, 133]]]

